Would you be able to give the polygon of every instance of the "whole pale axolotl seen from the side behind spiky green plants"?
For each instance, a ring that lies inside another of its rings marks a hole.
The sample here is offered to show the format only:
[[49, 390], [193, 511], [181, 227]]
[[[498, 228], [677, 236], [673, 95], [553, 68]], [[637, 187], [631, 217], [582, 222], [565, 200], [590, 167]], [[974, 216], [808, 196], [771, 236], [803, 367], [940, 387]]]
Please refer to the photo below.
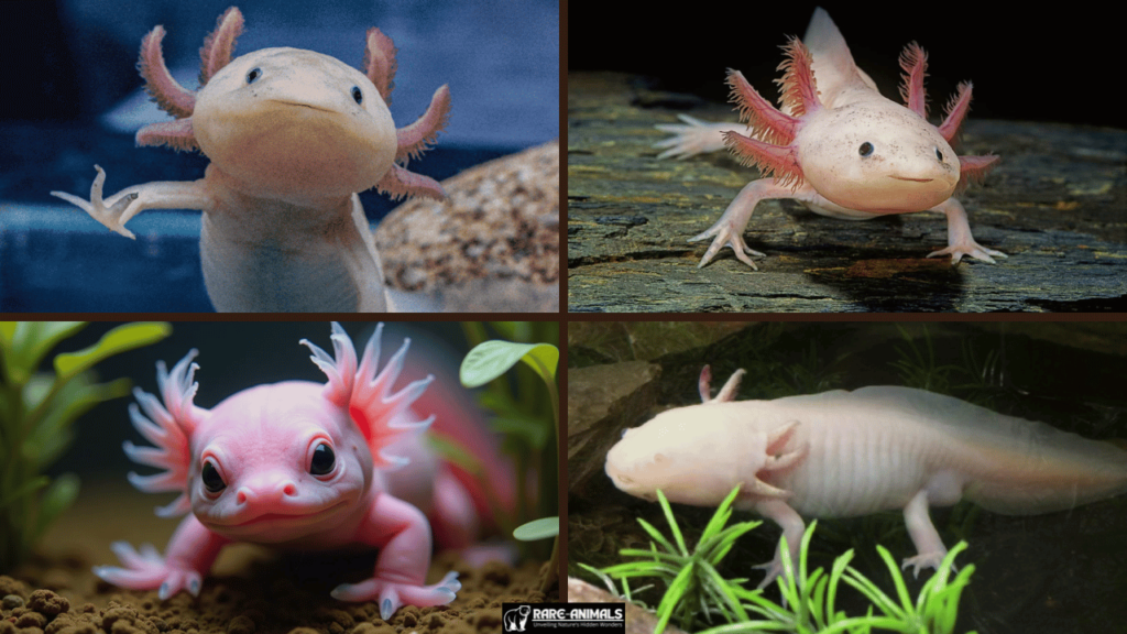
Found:
[[[904, 567], [937, 567], [947, 554], [928, 507], [961, 499], [1004, 514], [1071, 509], [1127, 492], [1127, 451], [1045, 423], [997, 414], [907, 387], [866, 387], [774, 400], [734, 402], [738, 370], [702, 405], [663, 412], [625, 430], [606, 455], [620, 490], [656, 500], [736, 508], [773, 520], [788, 545], [802, 516], [855, 517], [903, 509], [916, 555]], [[797, 565], [798, 548], [790, 555]], [[782, 543], [763, 564], [764, 588], [782, 571]]]

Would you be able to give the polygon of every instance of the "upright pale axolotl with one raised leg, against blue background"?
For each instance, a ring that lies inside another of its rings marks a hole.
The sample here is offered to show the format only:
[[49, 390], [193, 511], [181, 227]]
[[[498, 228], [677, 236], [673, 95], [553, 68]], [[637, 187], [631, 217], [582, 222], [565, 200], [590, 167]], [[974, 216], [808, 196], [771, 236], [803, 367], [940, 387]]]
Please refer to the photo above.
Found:
[[199, 150], [204, 177], [126, 187], [103, 199], [106, 173], [90, 200], [52, 195], [133, 238], [125, 223], [148, 209], [203, 212], [204, 282], [220, 311], [385, 311], [380, 255], [357, 192], [442, 200], [434, 179], [408, 171], [435, 141], [450, 113], [440, 87], [426, 113], [396, 129], [388, 111], [396, 47], [367, 32], [364, 72], [313, 51], [264, 49], [231, 59], [242, 32], [231, 7], [199, 51], [201, 88], [169, 73], [165, 29], [141, 44], [141, 74], [157, 104], [176, 117], [136, 134], [139, 146]]

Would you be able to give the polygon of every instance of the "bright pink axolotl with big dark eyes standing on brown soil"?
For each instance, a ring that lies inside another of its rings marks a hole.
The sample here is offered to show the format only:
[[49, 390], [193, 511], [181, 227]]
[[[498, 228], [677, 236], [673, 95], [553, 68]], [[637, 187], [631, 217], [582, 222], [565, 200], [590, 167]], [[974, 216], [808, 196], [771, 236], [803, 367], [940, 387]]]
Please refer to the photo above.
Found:
[[[458, 573], [425, 583], [432, 529], [419, 508], [428, 509], [440, 539], [465, 546], [479, 522], [473, 492], [421, 444], [434, 416], [416, 410], [434, 377], [393, 390], [410, 341], [379, 368], [382, 328], [358, 362], [339, 324], [332, 325], [332, 356], [302, 340], [328, 377], [323, 385], [263, 385], [211, 410], [193, 403], [195, 350], [171, 372], [158, 363], [161, 398], [135, 389], [143, 414], [130, 408], [133, 425], [156, 447], [126, 441], [125, 452], [165, 470], [131, 473], [130, 482], [144, 492], [180, 493], [159, 516], [192, 513], [163, 557], [150, 545], [137, 553], [119, 541], [113, 549], [125, 567], [99, 566], [95, 574], [125, 588], [159, 589], [163, 600], [181, 589], [198, 595], [220, 549], [233, 541], [314, 551], [358, 544], [380, 548], [375, 573], [337, 587], [334, 598], [379, 601], [384, 619], [405, 604], [452, 601]], [[388, 473], [399, 467], [414, 469], [410, 477]]]

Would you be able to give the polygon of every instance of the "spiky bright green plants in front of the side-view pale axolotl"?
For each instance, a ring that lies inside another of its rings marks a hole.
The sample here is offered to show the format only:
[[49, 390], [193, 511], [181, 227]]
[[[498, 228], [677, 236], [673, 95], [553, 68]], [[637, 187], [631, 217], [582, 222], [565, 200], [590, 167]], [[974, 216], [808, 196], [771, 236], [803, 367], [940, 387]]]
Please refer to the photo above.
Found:
[[[877, 552], [888, 567], [895, 588], [890, 597], [873, 581], [850, 566], [853, 551], [838, 556], [829, 573], [822, 567], [807, 573], [810, 539], [817, 521], [802, 535], [799, 563], [796, 570], [789, 557], [783, 557], [783, 572], [775, 581], [782, 602], [764, 596], [763, 590], [747, 590], [745, 579], [724, 579], [717, 567], [731, 549], [735, 540], [761, 522], [739, 522], [724, 528], [731, 516], [731, 503], [739, 492], [737, 486], [717, 509], [701, 535], [695, 551], [685, 548], [681, 529], [665, 495], [658, 491], [658, 503], [665, 512], [676, 540], [674, 546], [665, 536], [642, 519], [638, 522], [650, 535], [650, 549], [623, 548], [622, 556], [637, 557], [602, 569], [592, 570], [614, 591], [610, 578], [622, 582], [623, 595], [630, 600], [628, 579], [653, 576], [664, 580], [665, 595], [655, 610], [658, 617], [656, 634], [676, 617], [683, 629], [693, 631], [696, 615], [711, 620], [721, 615], [728, 623], [704, 629], [701, 634], [745, 634], [751, 632], [790, 632], [796, 634], [868, 633], [873, 628], [904, 634], [951, 634], [958, 616], [959, 598], [967, 587], [975, 566], [967, 565], [952, 579], [955, 557], [967, 544], [960, 541], [943, 558], [934, 574], [921, 588], [915, 600], [908, 593], [900, 569], [891, 554], [880, 545]], [[786, 548], [786, 538], [782, 539]], [[586, 567], [586, 566], [585, 566]], [[836, 607], [841, 584], [853, 588], [864, 597], [870, 607], [862, 616], [849, 616]], [[636, 590], [637, 591], [637, 590]], [[875, 614], [876, 613], [876, 614]], [[973, 633], [971, 633], [973, 634]]]

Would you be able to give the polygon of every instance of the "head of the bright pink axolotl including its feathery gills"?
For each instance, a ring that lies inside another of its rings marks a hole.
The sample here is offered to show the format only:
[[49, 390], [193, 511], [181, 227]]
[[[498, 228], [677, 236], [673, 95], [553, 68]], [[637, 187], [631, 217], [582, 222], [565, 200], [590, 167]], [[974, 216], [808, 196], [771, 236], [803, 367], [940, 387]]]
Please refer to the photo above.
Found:
[[327, 382], [257, 386], [211, 410], [193, 403], [196, 351], [171, 371], [159, 363], [160, 398], [135, 389], [140, 407], [130, 408], [133, 425], [157, 447], [125, 442], [125, 454], [165, 470], [131, 473], [130, 482], [149, 493], [179, 492], [159, 516], [190, 510], [231, 539], [323, 541], [317, 536], [355, 528], [382, 491], [378, 469], [408, 461], [390, 455], [402, 444], [397, 441], [434, 421], [410, 410], [434, 377], [392, 391], [410, 341], [381, 368], [382, 331], [381, 324], [357, 358], [348, 334], [332, 324], [334, 355], [302, 340]]

